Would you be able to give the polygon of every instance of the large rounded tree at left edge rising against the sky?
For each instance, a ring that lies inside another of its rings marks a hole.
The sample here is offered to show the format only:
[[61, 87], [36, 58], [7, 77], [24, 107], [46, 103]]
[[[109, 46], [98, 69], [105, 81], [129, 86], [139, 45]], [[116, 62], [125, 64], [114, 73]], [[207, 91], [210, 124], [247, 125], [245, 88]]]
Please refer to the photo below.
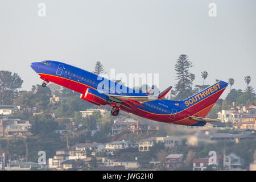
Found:
[[17, 73], [0, 71], [0, 105], [12, 105], [23, 80]]

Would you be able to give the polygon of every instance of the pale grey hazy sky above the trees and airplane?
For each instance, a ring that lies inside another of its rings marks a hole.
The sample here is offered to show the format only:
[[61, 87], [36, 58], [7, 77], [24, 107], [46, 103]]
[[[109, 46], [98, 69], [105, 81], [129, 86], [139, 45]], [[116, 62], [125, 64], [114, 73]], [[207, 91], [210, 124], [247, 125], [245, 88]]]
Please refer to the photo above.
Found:
[[[46, 17], [39, 17], [39, 3]], [[217, 16], [210, 17], [209, 3]], [[256, 1], [0, 1], [0, 70], [16, 72], [24, 90], [42, 84], [30, 63], [57, 60], [93, 71], [159, 73], [160, 89], [174, 86], [174, 65], [189, 56], [194, 84], [234, 78], [256, 88]], [[225, 90], [224, 96], [229, 92]]]

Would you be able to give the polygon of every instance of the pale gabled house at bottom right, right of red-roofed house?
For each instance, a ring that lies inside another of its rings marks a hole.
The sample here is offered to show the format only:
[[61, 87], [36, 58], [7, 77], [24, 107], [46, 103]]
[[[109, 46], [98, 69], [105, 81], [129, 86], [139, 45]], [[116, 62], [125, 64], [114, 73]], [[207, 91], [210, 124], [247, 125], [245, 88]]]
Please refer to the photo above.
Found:
[[242, 170], [243, 159], [234, 153], [224, 156], [223, 166], [225, 170]]

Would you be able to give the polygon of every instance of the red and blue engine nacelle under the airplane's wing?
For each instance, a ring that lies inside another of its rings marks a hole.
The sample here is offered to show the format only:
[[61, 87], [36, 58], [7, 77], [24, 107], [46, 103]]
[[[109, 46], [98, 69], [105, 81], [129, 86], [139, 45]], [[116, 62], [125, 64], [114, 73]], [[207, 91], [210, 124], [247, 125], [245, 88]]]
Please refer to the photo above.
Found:
[[81, 95], [81, 99], [96, 105], [106, 105], [109, 102], [108, 96], [94, 89], [87, 89], [85, 94]]

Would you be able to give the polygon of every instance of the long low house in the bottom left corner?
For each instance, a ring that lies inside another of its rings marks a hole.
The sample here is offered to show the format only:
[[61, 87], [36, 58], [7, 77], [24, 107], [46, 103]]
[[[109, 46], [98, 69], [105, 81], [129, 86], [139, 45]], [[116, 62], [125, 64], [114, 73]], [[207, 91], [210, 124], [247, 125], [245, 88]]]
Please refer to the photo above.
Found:
[[32, 167], [34, 168], [47, 168], [46, 165], [41, 165], [34, 162], [19, 162], [18, 160], [11, 161], [6, 164], [6, 171], [28, 171]]

